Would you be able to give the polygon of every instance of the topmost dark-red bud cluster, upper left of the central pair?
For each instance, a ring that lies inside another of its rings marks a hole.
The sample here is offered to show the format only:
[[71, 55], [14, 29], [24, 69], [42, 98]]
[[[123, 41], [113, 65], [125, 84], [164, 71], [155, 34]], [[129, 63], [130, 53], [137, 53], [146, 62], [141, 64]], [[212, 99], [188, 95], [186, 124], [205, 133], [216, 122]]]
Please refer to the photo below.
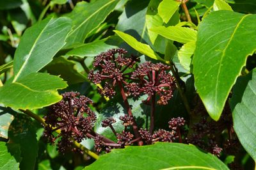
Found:
[[116, 94], [116, 84], [126, 83], [125, 70], [132, 68], [138, 61], [134, 56], [126, 58], [124, 56], [126, 53], [124, 49], [111, 49], [95, 57], [93, 62], [95, 70], [88, 73], [88, 79], [95, 84], [103, 83], [103, 88], [99, 88], [101, 95], [113, 97]]

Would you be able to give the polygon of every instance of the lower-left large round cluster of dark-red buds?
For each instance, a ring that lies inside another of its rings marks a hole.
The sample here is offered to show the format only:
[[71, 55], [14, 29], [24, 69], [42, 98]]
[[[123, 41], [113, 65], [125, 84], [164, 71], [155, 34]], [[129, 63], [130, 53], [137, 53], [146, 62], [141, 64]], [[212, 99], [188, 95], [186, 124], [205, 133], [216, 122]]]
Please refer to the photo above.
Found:
[[[45, 116], [44, 136], [54, 143], [58, 140], [58, 150], [64, 153], [72, 148], [72, 143], [78, 143], [86, 138], [86, 134], [92, 130], [96, 121], [95, 113], [88, 107], [92, 100], [88, 97], [80, 96], [76, 92], [63, 93], [63, 99], [52, 105], [49, 113]], [[86, 116], [84, 116], [86, 114]], [[52, 132], [60, 129], [61, 134], [54, 137]]]

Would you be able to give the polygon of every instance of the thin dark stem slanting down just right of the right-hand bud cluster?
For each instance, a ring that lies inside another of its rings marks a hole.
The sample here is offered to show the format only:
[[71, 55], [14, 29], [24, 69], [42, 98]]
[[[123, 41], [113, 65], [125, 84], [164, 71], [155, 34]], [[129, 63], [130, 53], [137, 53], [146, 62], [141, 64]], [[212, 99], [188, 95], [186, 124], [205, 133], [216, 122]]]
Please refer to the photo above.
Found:
[[176, 83], [177, 83], [177, 86], [178, 86], [178, 90], [179, 90], [182, 102], [185, 105], [186, 111], [190, 115], [190, 111], [191, 110], [190, 110], [190, 107], [189, 107], [188, 99], [187, 99], [187, 97], [186, 97], [186, 95], [185, 95], [185, 93], [184, 93], [184, 91], [183, 91], [183, 89], [182, 89], [182, 87], [180, 85], [180, 81], [182, 81], [182, 80], [180, 79], [179, 73], [177, 73], [175, 71], [175, 65], [172, 62], [170, 63], [170, 66], [171, 66], [172, 74], [173, 74], [173, 76], [174, 76], [174, 78], [176, 80]]

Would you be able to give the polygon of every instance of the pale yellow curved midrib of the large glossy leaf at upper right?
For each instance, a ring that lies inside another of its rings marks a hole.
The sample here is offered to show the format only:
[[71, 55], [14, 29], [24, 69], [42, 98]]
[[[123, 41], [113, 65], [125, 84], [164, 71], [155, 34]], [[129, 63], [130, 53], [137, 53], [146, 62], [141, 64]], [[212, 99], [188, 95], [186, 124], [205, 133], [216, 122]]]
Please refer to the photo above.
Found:
[[[241, 22], [243, 22], [243, 20], [246, 18], [246, 17], [248, 17], [248, 16], [250, 16], [251, 14], [248, 14], [248, 15], [244, 15], [242, 18], [241, 18], [241, 20], [239, 20], [239, 22], [238, 22], [238, 24], [237, 24], [237, 26], [236, 26], [236, 28], [234, 29], [234, 31], [233, 31], [233, 33], [232, 33], [232, 35], [231, 35], [231, 37], [230, 37], [230, 39], [228, 40], [228, 43], [227, 43], [227, 45], [226, 45], [226, 47], [225, 47], [225, 49], [223, 50], [223, 53], [222, 53], [222, 55], [221, 55], [221, 59], [220, 59], [220, 65], [219, 65], [219, 68], [218, 68], [218, 73], [217, 73], [217, 81], [216, 81], [216, 86], [215, 86], [215, 108], [217, 108], [217, 98], [218, 98], [218, 95], [217, 95], [217, 89], [218, 89], [218, 86], [219, 86], [219, 76], [220, 76], [220, 70], [221, 70], [221, 65], [222, 65], [222, 61], [223, 61], [223, 57], [225, 56], [225, 53], [226, 53], [226, 50], [227, 50], [227, 48], [228, 48], [228, 46], [229, 46], [229, 44], [230, 44], [230, 42], [232, 42], [232, 40], [233, 40], [233, 38], [234, 38], [234, 35], [235, 35], [235, 33], [236, 33], [236, 31], [237, 31], [237, 28], [240, 26], [240, 24], [241, 24]], [[240, 70], [241, 71], [241, 70]], [[232, 87], [231, 87], [232, 88]], [[228, 91], [230, 91], [230, 89], [228, 90]], [[226, 95], [227, 96], [227, 95]]]

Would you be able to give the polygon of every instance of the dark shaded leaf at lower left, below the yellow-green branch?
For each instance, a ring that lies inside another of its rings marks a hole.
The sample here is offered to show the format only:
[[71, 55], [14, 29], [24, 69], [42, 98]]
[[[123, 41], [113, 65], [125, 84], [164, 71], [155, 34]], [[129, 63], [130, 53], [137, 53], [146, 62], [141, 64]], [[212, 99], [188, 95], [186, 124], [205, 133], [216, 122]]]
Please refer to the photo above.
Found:
[[17, 157], [17, 146], [20, 146], [20, 169], [35, 169], [36, 157], [38, 154], [38, 144], [36, 140], [36, 130], [31, 118], [25, 114], [13, 113], [12, 121], [8, 131], [8, 149], [12, 155]]

